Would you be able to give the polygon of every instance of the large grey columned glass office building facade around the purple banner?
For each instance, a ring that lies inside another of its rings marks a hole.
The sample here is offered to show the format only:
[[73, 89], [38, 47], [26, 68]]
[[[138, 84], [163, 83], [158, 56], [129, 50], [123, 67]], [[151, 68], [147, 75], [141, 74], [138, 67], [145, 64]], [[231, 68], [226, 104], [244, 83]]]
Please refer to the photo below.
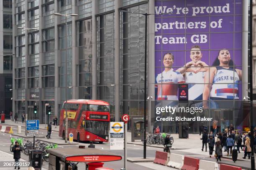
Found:
[[[155, 0], [13, 2], [10, 4], [12, 6], [9, 5], [9, 8], [13, 9], [13, 18], [8, 20], [5, 17], [3, 21], [4, 27], [10, 28], [13, 21], [13, 38], [4, 41], [3, 47], [13, 49], [15, 54], [13, 63], [12, 55], [9, 59], [5, 57], [5, 67], [13, 69], [15, 73], [13, 111], [18, 113], [18, 117], [21, 118], [21, 113], [26, 112], [28, 118], [37, 118], [44, 122], [46, 103], [49, 103], [53, 110], [50, 117], [52, 120], [54, 115], [59, 117], [59, 110], [66, 98], [93, 99], [109, 102], [110, 119], [119, 121], [120, 115], [123, 114], [144, 115], [146, 93], [147, 125], [152, 131], [153, 126], [157, 125], [154, 122], [155, 106], [168, 105], [167, 101], [155, 98], [157, 70], [154, 68], [155, 62], [159, 61], [155, 60], [154, 15], [148, 16], [148, 34], [145, 35], [143, 14], [155, 13]], [[8, 6], [8, 3], [5, 6]], [[66, 25], [65, 16], [56, 16], [54, 13], [78, 16], [67, 16]], [[8, 39], [8, 36], [12, 35], [6, 35], [5, 38]], [[148, 48], [146, 65], [145, 36]], [[184, 57], [184, 63], [185, 60]], [[38, 107], [36, 115], [33, 114], [35, 104]], [[186, 105], [193, 104], [193, 101], [189, 101]], [[232, 104], [227, 105], [230, 108], [205, 110], [204, 115], [218, 115], [216, 118], [219, 119], [220, 128], [226, 125], [225, 120], [230, 120], [228, 123], [238, 122], [241, 117], [234, 108], [240, 104], [233, 100]], [[166, 122], [160, 126], [161, 130], [175, 132], [175, 123], [170, 125]], [[199, 124], [191, 126], [191, 133], [199, 131]], [[129, 129], [130, 127], [129, 124]]]

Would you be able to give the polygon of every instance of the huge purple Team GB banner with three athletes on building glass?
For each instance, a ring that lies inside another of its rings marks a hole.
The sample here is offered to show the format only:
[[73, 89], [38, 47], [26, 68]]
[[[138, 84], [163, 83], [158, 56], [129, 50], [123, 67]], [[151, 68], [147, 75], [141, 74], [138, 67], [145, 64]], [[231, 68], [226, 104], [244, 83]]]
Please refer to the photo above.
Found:
[[241, 100], [242, 0], [155, 1], [156, 100]]

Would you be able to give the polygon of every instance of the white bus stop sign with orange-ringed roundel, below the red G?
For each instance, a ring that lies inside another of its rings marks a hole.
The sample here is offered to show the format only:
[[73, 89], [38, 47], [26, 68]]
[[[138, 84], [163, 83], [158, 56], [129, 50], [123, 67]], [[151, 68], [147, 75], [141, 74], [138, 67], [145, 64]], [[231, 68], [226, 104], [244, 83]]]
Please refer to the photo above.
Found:
[[110, 122], [110, 150], [123, 150], [123, 122]]

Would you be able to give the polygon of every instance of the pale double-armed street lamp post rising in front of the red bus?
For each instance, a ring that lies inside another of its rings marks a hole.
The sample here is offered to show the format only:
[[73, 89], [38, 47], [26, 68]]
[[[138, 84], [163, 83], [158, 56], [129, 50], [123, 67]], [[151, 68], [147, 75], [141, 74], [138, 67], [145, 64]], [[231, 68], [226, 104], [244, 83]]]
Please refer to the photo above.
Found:
[[75, 16], [78, 16], [77, 14], [60, 14], [60, 13], [55, 13], [54, 15], [56, 16], [65, 16], [65, 24], [66, 24], [66, 28], [65, 28], [65, 47], [66, 47], [66, 55], [65, 55], [65, 59], [66, 59], [66, 62], [65, 62], [65, 72], [66, 72], [66, 76], [65, 76], [65, 79], [66, 79], [66, 83], [65, 83], [65, 88], [66, 88], [66, 118], [65, 118], [65, 143], [67, 143], [67, 125], [68, 125], [68, 116], [67, 116], [67, 16], [72, 16], [72, 17], [75, 17]]

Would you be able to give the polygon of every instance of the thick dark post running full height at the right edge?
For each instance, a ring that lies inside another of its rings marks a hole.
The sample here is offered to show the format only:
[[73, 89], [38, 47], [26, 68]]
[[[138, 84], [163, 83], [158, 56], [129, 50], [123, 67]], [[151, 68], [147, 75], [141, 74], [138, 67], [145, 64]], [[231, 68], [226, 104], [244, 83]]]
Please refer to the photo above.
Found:
[[253, 52], [252, 52], [252, 41], [253, 41], [253, 2], [250, 0], [250, 119], [251, 119], [251, 170], [255, 169], [254, 160], [254, 134], [253, 134]]

